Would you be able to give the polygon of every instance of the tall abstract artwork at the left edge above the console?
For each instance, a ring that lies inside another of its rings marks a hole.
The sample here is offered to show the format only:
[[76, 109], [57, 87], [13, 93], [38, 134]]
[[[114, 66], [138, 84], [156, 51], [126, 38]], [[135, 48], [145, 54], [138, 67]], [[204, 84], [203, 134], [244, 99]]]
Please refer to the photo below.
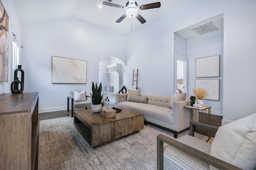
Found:
[[9, 16], [0, 1], [0, 82], [8, 82]]

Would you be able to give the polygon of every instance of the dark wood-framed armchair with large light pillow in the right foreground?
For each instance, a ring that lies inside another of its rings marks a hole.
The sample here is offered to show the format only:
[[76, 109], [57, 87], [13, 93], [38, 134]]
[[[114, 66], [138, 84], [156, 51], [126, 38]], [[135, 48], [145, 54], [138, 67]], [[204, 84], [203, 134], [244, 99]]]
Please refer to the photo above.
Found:
[[[212, 144], [194, 137], [196, 126], [217, 130]], [[163, 143], [167, 143], [164, 147]], [[157, 169], [256, 169], [256, 113], [220, 127], [190, 121], [190, 135], [157, 136]]]

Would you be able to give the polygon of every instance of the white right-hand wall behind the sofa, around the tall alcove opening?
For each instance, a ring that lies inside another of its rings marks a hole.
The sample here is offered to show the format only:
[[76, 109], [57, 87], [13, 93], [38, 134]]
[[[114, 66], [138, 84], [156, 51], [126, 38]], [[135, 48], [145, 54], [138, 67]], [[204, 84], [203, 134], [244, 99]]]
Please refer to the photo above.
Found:
[[[142, 93], [172, 95], [174, 32], [224, 13], [223, 123], [256, 112], [255, 9], [255, 0], [188, 0], [130, 33], [126, 63], [139, 68]], [[244, 90], [245, 84], [252, 88]]]

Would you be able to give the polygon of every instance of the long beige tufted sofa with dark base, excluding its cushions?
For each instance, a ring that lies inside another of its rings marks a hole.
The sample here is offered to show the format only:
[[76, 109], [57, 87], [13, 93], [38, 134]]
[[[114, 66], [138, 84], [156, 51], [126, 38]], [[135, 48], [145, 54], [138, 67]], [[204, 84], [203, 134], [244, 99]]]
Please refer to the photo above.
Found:
[[[186, 94], [185, 94], [186, 95]], [[128, 94], [116, 94], [116, 106], [138, 111], [144, 114], [144, 121], [162, 129], [174, 133], [178, 137], [178, 132], [189, 127], [190, 111], [185, 106], [190, 105], [190, 99], [173, 102], [172, 96], [159, 96], [151, 94], [140, 94], [146, 98], [146, 102], [127, 101]], [[173, 102], [170, 106], [170, 102]]]

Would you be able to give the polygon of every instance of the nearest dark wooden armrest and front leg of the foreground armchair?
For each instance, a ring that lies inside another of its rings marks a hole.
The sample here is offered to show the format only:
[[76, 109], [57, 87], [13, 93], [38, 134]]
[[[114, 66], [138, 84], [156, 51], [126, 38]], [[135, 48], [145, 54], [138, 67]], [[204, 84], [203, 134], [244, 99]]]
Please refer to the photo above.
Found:
[[194, 149], [188, 145], [185, 145], [184, 143], [176, 141], [175, 139], [172, 139], [165, 135], [160, 134], [156, 138], [157, 138], [157, 141], [156, 141], [157, 170], [162, 170], [164, 168], [164, 144], [163, 143], [167, 143], [168, 145], [171, 145], [172, 147], [178, 150], [181, 150], [182, 152], [185, 152], [186, 154], [189, 154], [190, 156], [193, 156], [201, 160], [202, 162], [212, 165], [218, 169], [241, 170], [240, 168], [232, 164], [229, 164], [228, 162], [224, 162], [223, 160], [220, 160], [218, 158], [215, 158], [214, 156], [201, 152], [200, 150]]

